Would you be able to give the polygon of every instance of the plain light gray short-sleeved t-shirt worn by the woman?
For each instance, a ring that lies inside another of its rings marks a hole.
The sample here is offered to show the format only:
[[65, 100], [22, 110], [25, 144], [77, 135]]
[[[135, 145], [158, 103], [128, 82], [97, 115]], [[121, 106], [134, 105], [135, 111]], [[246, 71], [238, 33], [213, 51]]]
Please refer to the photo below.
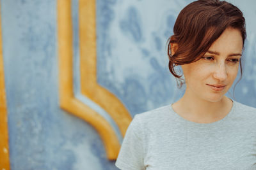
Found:
[[171, 105], [134, 117], [116, 166], [132, 169], [256, 169], [256, 108], [233, 101], [210, 124], [180, 117]]

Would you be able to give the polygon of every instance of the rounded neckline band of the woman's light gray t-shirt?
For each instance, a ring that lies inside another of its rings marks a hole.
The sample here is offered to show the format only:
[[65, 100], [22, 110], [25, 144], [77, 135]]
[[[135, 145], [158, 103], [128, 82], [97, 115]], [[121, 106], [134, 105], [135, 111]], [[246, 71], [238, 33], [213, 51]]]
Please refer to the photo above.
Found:
[[[232, 100], [232, 99], [231, 99]], [[177, 120], [182, 123], [182, 124], [186, 124], [186, 125], [189, 125], [191, 127], [200, 127], [200, 128], [205, 128], [205, 127], [215, 127], [215, 126], [218, 126], [220, 124], [224, 124], [227, 119], [230, 117], [230, 115], [232, 115], [232, 113], [234, 113], [234, 110], [236, 108], [236, 101], [232, 100], [233, 104], [232, 104], [232, 108], [231, 110], [229, 111], [229, 113], [224, 117], [222, 118], [221, 120], [217, 120], [216, 122], [211, 122], [211, 123], [196, 123], [196, 122], [192, 122], [190, 120], [187, 120], [186, 118], [183, 118], [181, 117], [178, 113], [176, 113], [173, 108], [172, 108], [172, 104], [170, 104], [170, 110], [172, 111], [172, 113], [174, 113], [175, 115], [175, 118], [177, 118]]]

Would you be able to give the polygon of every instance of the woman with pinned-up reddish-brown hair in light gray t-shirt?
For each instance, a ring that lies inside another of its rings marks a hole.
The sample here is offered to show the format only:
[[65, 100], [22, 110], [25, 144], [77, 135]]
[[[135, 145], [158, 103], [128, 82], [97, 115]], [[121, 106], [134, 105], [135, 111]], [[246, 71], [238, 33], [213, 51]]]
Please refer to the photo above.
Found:
[[256, 109], [225, 96], [239, 66], [242, 73], [243, 13], [225, 1], [195, 1], [180, 11], [173, 33], [169, 68], [186, 92], [176, 103], [134, 117], [116, 166], [256, 169]]

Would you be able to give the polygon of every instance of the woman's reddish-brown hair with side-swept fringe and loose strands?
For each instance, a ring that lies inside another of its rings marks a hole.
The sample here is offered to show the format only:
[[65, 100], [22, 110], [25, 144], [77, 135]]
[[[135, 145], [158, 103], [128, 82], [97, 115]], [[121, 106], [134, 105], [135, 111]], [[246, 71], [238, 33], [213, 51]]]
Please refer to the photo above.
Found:
[[[199, 60], [227, 27], [239, 29], [244, 47], [245, 20], [243, 13], [233, 4], [220, 0], [198, 0], [180, 11], [173, 36], [168, 39], [169, 69], [180, 80], [178, 87], [183, 84], [182, 75], [178, 75], [174, 67]], [[178, 44], [173, 55], [171, 43]], [[240, 70], [242, 76], [241, 62]]]

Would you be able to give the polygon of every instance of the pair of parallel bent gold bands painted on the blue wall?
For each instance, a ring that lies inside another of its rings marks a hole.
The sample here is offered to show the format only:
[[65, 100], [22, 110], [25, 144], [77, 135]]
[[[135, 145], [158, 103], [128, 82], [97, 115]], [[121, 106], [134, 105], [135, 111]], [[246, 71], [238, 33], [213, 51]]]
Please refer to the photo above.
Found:
[[[109, 113], [124, 137], [132, 118], [115, 95], [97, 83], [95, 3], [95, 0], [79, 0], [81, 93]], [[108, 159], [115, 160], [120, 149], [120, 143], [113, 127], [99, 113], [74, 96], [71, 0], [58, 0], [57, 11], [60, 107], [91, 124], [102, 138]]]

